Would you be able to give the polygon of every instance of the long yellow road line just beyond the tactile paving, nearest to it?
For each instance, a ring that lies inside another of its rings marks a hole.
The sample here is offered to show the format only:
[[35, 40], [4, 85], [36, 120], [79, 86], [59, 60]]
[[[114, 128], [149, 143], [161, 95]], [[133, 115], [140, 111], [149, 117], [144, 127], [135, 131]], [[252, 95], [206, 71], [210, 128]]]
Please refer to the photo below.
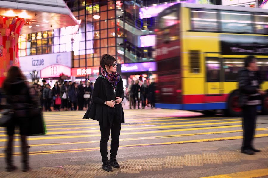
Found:
[[[267, 137], [268, 134], [257, 134], [255, 138]], [[170, 144], [182, 144], [182, 143], [197, 143], [197, 142], [211, 142], [211, 141], [222, 141], [222, 140], [235, 140], [242, 139], [242, 136], [233, 136], [233, 137], [221, 137], [221, 138], [212, 138], [212, 139], [199, 139], [199, 140], [187, 140], [187, 141], [177, 141], [177, 142], [163, 142], [163, 143], [149, 143], [149, 144], [133, 144], [133, 145], [122, 145], [119, 146], [119, 149], [128, 148], [128, 147], [145, 147], [145, 146], [160, 146], [160, 145], [170, 145]], [[77, 149], [68, 149], [68, 150], [47, 150], [40, 152], [30, 152], [30, 155], [43, 155], [43, 154], [56, 154], [56, 153], [71, 153], [71, 152], [85, 152], [85, 151], [96, 151], [99, 150], [99, 147], [96, 148], [77, 148]], [[14, 153], [15, 156], [20, 155], [20, 153]], [[4, 154], [0, 154], [0, 157], [4, 157]]]

